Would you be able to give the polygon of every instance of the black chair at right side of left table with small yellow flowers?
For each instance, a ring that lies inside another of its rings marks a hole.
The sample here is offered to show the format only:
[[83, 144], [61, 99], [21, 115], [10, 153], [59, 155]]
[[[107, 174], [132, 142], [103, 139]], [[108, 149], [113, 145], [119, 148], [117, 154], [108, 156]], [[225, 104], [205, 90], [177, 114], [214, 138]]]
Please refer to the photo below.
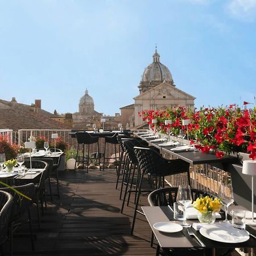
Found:
[[[32, 163], [32, 168], [39, 168], [39, 169], [44, 169], [40, 176], [39, 182], [35, 185], [35, 203], [36, 203], [36, 208], [38, 211], [38, 227], [39, 229], [41, 228], [40, 226], [40, 211], [39, 211], [39, 201], [41, 204], [41, 212], [42, 216], [44, 215], [44, 205], [47, 207], [47, 201], [46, 201], [46, 179], [49, 176], [49, 164], [47, 162], [44, 162], [42, 160], [31, 160]], [[27, 168], [30, 168], [30, 160], [25, 160], [24, 166]]]

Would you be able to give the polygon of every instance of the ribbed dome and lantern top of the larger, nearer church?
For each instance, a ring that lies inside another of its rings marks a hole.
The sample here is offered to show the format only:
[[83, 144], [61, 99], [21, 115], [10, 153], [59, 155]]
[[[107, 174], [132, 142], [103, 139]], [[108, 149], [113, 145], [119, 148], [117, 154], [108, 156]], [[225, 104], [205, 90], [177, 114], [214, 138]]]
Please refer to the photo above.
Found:
[[174, 83], [172, 80], [172, 75], [169, 69], [160, 63], [160, 55], [155, 49], [155, 54], [153, 55], [153, 63], [148, 65], [143, 72], [141, 82], [170, 82]]

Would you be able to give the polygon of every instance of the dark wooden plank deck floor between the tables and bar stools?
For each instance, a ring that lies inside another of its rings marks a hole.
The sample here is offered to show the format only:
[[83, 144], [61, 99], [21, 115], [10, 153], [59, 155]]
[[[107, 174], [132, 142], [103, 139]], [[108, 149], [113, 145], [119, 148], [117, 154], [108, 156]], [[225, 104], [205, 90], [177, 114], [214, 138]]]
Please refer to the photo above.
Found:
[[[24, 225], [15, 233], [14, 255], [155, 255], [144, 216], [138, 216], [134, 236], [130, 235], [134, 205], [120, 213], [115, 180], [115, 170], [61, 172], [61, 198], [49, 202], [40, 230], [32, 209], [36, 250], [31, 251]], [[143, 200], [146, 204], [146, 197]], [[3, 249], [7, 252], [8, 247], [6, 243]]]

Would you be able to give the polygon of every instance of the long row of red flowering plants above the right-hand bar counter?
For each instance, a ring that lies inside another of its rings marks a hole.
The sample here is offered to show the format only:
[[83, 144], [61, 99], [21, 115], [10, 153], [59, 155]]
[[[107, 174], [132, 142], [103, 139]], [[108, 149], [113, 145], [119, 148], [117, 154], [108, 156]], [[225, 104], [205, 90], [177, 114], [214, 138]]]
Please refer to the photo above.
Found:
[[[242, 110], [236, 104], [226, 108], [201, 108], [193, 112], [191, 109], [177, 107], [166, 110], [144, 110], [139, 113], [143, 121], [147, 121], [156, 131], [166, 133], [170, 130], [177, 136], [182, 119], [191, 119], [188, 125], [191, 144], [195, 144], [202, 152], [213, 150], [217, 158], [231, 152], [247, 151], [251, 159], [256, 159], [256, 108]], [[158, 123], [152, 124], [152, 119]], [[172, 124], [164, 125], [164, 120], [172, 119]]]

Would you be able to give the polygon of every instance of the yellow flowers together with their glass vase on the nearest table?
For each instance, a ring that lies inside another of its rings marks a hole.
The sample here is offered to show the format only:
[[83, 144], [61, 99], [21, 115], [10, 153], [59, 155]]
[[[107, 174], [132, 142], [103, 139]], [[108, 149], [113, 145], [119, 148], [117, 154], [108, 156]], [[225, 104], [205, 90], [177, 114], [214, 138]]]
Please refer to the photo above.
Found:
[[198, 210], [197, 217], [200, 222], [213, 223], [216, 219], [215, 213], [220, 212], [220, 200], [209, 196], [199, 197], [193, 202], [193, 207]]

